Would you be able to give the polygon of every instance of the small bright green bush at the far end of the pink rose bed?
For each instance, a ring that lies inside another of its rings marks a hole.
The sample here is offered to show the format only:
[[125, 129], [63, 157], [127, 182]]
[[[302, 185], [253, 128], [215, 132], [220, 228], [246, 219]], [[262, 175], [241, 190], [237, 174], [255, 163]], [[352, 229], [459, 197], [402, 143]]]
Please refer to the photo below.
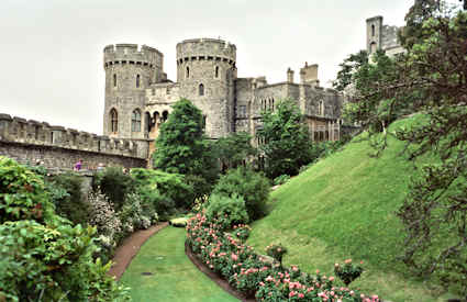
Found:
[[230, 230], [235, 224], [248, 223], [245, 201], [236, 194], [232, 197], [211, 195], [205, 216], [209, 221], [216, 222], [223, 230]]

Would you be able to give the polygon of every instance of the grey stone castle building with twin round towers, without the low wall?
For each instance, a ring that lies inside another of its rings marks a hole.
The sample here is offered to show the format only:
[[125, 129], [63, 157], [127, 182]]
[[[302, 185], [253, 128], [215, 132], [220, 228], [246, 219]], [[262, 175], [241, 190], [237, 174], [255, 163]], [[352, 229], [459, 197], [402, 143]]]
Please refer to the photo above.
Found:
[[291, 99], [305, 115], [312, 139], [340, 139], [344, 98], [320, 87], [318, 65], [305, 64], [300, 69], [300, 82], [294, 82], [290, 68], [283, 82], [268, 83], [266, 77], [238, 78], [235, 45], [215, 38], [177, 44], [176, 82], [167, 79], [163, 63], [164, 55], [145, 45], [104, 48], [105, 135], [138, 144], [154, 141], [171, 104], [186, 98], [202, 111], [209, 137], [233, 132], [247, 132], [255, 137], [262, 126], [260, 112], [274, 111], [279, 100]]

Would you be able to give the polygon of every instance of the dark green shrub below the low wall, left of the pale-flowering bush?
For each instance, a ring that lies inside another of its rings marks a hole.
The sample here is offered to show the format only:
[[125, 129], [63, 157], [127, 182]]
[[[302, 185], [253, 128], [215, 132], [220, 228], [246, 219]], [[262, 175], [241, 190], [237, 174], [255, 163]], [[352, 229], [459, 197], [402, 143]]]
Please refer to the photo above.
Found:
[[82, 179], [76, 175], [57, 175], [47, 179], [52, 200], [58, 215], [68, 219], [74, 224], [86, 225], [89, 220], [89, 204], [82, 194]]

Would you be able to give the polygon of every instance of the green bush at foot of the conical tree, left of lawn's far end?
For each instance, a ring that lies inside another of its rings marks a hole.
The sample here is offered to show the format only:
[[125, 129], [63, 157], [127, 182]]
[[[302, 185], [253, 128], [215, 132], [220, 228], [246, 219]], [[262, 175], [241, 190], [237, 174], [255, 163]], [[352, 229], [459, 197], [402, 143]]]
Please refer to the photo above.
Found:
[[157, 190], [174, 201], [176, 208], [189, 209], [194, 202], [193, 187], [187, 183], [182, 175], [142, 168], [132, 169], [131, 175], [140, 186], [138, 191]]

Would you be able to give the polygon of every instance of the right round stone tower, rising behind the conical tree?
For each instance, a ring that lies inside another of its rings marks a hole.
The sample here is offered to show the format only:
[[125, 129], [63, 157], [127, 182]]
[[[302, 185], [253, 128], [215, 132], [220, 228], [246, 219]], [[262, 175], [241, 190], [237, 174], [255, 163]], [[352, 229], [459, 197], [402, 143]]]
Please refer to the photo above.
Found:
[[234, 128], [236, 47], [222, 40], [193, 38], [177, 44], [177, 82], [180, 96], [204, 114], [211, 138]]

